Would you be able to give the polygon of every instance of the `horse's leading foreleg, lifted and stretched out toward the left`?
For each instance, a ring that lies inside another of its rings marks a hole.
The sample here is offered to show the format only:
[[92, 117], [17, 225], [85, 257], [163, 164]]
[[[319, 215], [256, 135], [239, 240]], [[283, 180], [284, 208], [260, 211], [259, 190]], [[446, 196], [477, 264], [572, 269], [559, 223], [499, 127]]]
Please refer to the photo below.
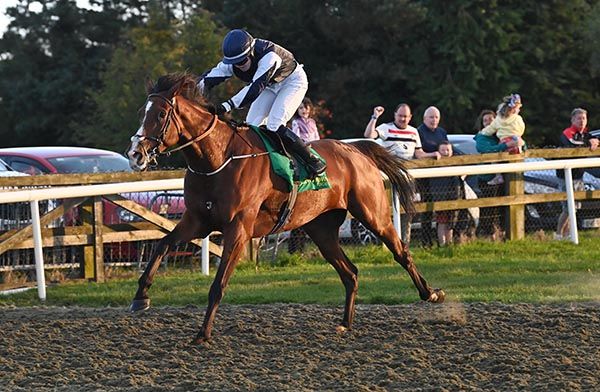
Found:
[[156, 250], [152, 254], [150, 261], [146, 265], [144, 272], [138, 279], [138, 290], [135, 293], [135, 297], [131, 303], [130, 310], [137, 312], [145, 310], [150, 307], [150, 298], [148, 298], [148, 289], [152, 286], [154, 281], [154, 275], [160, 266], [163, 258], [169, 253], [169, 250], [179, 242], [187, 242], [199, 235], [199, 225], [192, 222], [192, 219], [187, 213], [184, 213], [183, 217], [175, 226], [173, 231], [164, 236], [156, 247]]

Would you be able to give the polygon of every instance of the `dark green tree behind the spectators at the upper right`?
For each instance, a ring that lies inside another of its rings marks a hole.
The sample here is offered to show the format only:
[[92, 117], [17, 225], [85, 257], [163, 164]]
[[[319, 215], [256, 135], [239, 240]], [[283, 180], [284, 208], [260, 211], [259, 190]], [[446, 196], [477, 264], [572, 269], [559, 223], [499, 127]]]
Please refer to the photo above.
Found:
[[414, 31], [407, 67], [419, 114], [436, 105], [449, 131], [469, 132], [481, 109], [519, 92], [525, 139], [554, 143], [571, 108], [598, 104], [597, 80], [581, 61], [589, 3], [421, 2], [427, 22]]

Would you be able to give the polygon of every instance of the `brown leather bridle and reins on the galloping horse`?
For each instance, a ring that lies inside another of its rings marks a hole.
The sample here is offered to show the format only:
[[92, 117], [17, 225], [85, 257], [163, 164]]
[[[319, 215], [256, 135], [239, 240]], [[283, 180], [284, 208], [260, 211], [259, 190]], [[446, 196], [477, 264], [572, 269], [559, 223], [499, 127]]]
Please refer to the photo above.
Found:
[[154, 164], [156, 164], [156, 159], [159, 156], [161, 156], [161, 155], [169, 156], [176, 151], [183, 150], [184, 148], [190, 146], [191, 144], [199, 142], [200, 140], [204, 139], [215, 129], [215, 126], [217, 125], [217, 115], [213, 114], [211, 122], [208, 125], [208, 128], [204, 132], [202, 132], [201, 134], [199, 134], [192, 140], [189, 140], [182, 145], [174, 147], [170, 150], [160, 151], [160, 148], [165, 145], [164, 140], [167, 135], [167, 131], [169, 130], [169, 126], [171, 125], [171, 122], [173, 122], [173, 124], [175, 124], [175, 128], [177, 128], [177, 136], [179, 138], [181, 138], [181, 136], [182, 136], [181, 127], [179, 125], [179, 121], [177, 121], [177, 117], [175, 116], [175, 105], [176, 105], [175, 97], [173, 97], [171, 100], [169, 100], [160, 94], [154, 93], [154, 94], [148, 95], [146, 102], [148, 102], [151, 98], [159, 98], [161, 101], [165, 102], [168, 106], [167, 114], [164, 117], [165, 120], [164, 120], [163, 126], [160, 129], [159, 135], [156, 137], [156, 136], [143, 136], [143, 135], [140, 136], [140, 135], [136, 134], [131, 137], [131, 141], [132, 142], [137, 141], [139, 143], [144, 140], [149, 140], [149, 141], [154, 142], [155, 146], [150, 151], [148, 151], [145, 147], [143, 147], [144, 152], [148, 156], [148, 160], [150, 162], [154, 162]]

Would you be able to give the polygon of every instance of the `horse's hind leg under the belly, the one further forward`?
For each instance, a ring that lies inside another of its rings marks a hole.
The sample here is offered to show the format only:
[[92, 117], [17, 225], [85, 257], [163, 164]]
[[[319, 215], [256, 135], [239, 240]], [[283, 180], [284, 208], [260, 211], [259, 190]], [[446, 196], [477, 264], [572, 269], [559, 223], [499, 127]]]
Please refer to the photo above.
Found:
[[337, 330], [343, 332], [352, 327], [356, 292], [358, 291], [358, 269], [346, 256], [339, 243], [339, 227], [346, 217], [346, 211], [333, 210], [318, 216], [303, 229], [317, 244], [321, 254], [335, 268], [346, 289], [344, 318]]

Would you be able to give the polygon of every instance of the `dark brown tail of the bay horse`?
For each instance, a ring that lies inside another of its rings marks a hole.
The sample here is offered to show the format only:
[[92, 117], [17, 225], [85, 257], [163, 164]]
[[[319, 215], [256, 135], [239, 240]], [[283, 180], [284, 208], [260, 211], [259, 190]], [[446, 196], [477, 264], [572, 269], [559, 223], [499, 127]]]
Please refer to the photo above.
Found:
[[390, 153], [386, 148], [369, 140], [350, 143], [369, 157], [379, 170], [385, 173], [398, 193], [400, 204], [407, 213], [414, 213], [415, 180], [404, 167], [404, 159]]

